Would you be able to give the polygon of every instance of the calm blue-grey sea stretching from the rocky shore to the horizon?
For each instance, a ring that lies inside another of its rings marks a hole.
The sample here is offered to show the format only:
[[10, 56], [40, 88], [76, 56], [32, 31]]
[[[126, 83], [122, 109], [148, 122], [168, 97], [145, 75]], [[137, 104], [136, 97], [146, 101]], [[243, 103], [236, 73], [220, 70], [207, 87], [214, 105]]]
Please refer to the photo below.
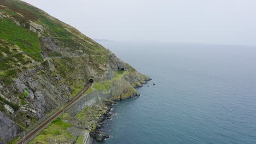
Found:
[[113, 106], [102, 143], [256, 143], [256, 47], [101, 44], [153, 79]]

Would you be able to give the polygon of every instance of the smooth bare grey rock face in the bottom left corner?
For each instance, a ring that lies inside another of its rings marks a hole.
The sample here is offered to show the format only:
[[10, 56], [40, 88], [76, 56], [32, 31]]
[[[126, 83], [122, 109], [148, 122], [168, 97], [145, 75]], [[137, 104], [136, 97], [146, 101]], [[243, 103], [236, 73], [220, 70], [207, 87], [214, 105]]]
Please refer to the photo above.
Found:
[[0, 143], [7, 143], [13, 136], [17, 136], [20, 131], [21, 128], [0, 111]]

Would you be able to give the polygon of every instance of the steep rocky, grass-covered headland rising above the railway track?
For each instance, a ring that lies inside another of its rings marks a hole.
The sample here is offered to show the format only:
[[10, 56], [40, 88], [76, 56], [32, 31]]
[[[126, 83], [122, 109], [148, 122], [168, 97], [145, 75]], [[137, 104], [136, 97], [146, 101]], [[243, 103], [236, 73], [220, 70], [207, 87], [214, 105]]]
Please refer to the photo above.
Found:
[[89, 79], [98, 97], [119, 100], [138, 95], [134, 88], [148, 77], [44, 11], [0, 0], [0, 143], [66, 104]]

